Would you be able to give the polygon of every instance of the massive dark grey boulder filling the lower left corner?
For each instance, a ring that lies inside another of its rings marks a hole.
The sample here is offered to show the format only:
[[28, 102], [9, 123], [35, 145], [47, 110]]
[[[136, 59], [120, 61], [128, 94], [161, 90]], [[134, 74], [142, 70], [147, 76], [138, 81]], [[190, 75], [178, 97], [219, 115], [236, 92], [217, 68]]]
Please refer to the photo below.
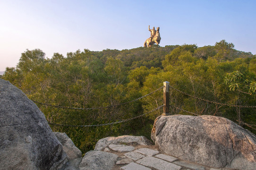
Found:
[[0, 170], [58, 170], [66, 162], [36, 104], [0, 79]]

